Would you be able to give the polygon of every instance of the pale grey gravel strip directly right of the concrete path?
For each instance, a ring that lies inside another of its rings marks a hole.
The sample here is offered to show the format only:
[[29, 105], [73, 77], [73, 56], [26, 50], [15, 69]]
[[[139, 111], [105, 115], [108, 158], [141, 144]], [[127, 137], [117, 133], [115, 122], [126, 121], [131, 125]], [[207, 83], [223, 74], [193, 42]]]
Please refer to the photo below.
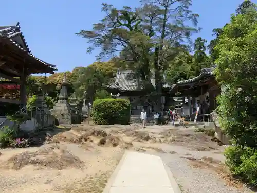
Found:
[[[183, 192], [187, 193], [241, 193], [241, 192], [253, 192], [249, 189], [236, 188], [233, 185], [229, 186], [228, 182], [219, 176], [213, 170], [209, 168], [193, 168], [191, 166], [190, 160], [181, 158], [185, 156], [185, 150], [181, 147], [176, 148], [174, 154], [159, 154], [162, 157], [163, 162], [165, 162], [173, 173], [177, 183], [181, 186]], [[190, 153], [190, 157], [218, 157], [223, 155], [215, 154], [214, 152], [193, 152], [187, 151]], [[186, 153], [186, 154], [187, 154]], [[187, 157], [188, 154], [185, 156]]]

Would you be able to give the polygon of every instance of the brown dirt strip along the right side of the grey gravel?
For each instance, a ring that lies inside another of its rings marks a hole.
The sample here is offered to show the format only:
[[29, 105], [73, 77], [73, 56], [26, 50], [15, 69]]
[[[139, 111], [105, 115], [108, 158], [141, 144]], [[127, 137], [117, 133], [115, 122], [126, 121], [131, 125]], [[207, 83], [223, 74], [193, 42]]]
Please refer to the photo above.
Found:
[[194, 168], [199, 169], [211, 169], [225, 180], [226, 185], [233, 186], [236, 188], [243, 188], [243, 183], [240, 180], [235, 179], [229, 172], [229, 169], [219, 160], [213, 159], [212, 157], [202, 157], [201, 159], [195, 159], [194, 157], [181, 157], [188, 159], [190, 164]]

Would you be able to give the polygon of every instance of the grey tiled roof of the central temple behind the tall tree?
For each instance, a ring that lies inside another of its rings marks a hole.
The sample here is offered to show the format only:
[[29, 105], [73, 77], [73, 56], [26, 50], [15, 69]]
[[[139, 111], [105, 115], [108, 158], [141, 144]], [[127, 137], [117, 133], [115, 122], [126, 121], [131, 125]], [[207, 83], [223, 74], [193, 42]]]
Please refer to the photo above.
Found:
[[[106, 87], [109, 89], [119, 89], [121, 91], [141, 90], [140, 79], [134, 78], [133, 76], [134, 72], [131, 70], [118, 71], [115, 82]], [[151, 78], [151, 83], [155, 86], [155, 78]], [[170, 85], [165, 83], [163, 88], [170, 88]]]

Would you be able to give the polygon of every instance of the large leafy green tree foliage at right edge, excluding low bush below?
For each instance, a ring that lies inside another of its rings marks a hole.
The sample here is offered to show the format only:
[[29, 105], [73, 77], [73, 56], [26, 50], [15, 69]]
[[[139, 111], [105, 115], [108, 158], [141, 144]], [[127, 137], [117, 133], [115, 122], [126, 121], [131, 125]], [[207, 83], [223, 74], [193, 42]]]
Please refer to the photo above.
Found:
[[237, 145], [257, 146], [257, 12], [231, 17], [215, 50], [221, 126]]

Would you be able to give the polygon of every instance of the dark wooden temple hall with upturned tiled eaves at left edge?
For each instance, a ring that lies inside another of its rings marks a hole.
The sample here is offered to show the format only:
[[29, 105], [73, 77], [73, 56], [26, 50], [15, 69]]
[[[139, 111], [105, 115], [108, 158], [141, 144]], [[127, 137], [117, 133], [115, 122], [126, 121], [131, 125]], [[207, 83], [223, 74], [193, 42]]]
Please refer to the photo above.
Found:
[[19, 23], [0, 26], [0, 109], [6, 103], [26, 106], [26, 78], [31, 74], [54, 74], [54, 71], [54, 65], [31, 53]]

